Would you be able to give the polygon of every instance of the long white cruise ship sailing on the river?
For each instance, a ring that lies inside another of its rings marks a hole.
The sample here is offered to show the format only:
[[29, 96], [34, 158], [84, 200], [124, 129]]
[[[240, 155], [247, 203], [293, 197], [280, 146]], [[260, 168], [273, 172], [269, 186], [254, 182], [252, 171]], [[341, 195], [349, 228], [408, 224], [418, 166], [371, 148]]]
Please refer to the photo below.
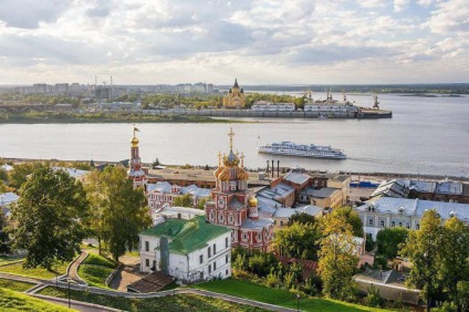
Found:
[[345, 159], [347, 156], [340, 149], [332, 148], [331, 146], [319, 146], [314, 144], [294, 144], [292, 142], [272, 143], [258, 147], [259, 153], [285, 155], [285, 156], [300, 156], [312, 158], [331, 158], [331, 159]]

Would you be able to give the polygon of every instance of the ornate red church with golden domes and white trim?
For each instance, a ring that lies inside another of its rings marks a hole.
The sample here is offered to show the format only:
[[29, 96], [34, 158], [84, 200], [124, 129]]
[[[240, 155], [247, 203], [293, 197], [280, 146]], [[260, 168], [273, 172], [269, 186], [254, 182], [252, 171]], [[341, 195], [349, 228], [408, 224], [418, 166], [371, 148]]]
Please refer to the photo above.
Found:
[[212, 200], [206, 204], [207, 220], [231, 229], [233, 246], [265, 252], [270, 250], [273, 220], [259, 215], [258, 199], [248, 189], [244, 156], [232, 149], [233, 135], [231, 129], [229, 154], [218, 155], [217, 186], [211, 193]]

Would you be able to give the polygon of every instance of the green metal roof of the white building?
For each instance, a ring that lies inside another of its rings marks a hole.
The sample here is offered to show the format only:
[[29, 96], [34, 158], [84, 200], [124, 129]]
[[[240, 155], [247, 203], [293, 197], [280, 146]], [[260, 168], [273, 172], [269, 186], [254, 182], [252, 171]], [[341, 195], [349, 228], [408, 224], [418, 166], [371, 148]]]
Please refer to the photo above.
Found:
[[140, 233], [154, 237], [166, 236], [173, 240], [169, 242], [170, 251], [188, 254], [207, 247], [207, 241], [229, 231], [231, 230], [228, 228], [207, 222], [205, 216], [198, 216], [190, 220], [168, 219]]

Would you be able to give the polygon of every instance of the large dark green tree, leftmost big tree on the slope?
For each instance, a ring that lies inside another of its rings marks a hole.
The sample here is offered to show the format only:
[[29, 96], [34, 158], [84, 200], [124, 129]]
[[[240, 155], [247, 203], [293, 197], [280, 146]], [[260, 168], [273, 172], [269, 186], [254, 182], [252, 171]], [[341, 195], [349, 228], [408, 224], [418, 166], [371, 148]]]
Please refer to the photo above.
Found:
[[37, 169], [20, 189], [11, 209], [13, 247], [28, 252], [24, 267], [51, 269], [71, 261], [85, 237], [81, 220], [87, 211], [82, 184], [51, 168]]

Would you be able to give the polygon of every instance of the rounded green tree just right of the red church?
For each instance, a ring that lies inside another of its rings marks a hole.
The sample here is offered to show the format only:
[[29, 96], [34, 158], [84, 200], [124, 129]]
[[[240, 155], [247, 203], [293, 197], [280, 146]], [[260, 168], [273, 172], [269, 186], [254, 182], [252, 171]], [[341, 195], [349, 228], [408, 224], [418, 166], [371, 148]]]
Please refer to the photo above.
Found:
[[295, 221], [275, 232], [273, 248], [282, 256], [316, 261], [320, 238], [321, 229], [314, 218], [305, 223]]

